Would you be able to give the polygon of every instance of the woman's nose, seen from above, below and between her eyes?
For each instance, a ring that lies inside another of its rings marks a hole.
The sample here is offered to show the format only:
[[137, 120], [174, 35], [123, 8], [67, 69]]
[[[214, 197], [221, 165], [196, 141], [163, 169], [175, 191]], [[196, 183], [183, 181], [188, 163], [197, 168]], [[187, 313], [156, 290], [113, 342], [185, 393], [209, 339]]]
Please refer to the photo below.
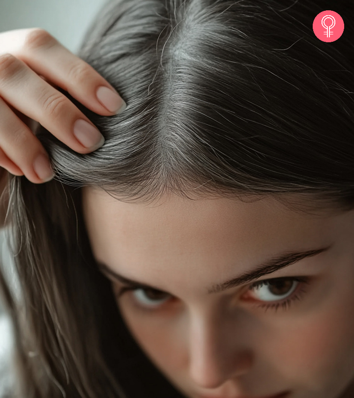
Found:
[[220, 387], [250, 370], [252, 351], [235, 326], [199, 314], [190, 318], [189, 333], [189, 374], [201, 389]]

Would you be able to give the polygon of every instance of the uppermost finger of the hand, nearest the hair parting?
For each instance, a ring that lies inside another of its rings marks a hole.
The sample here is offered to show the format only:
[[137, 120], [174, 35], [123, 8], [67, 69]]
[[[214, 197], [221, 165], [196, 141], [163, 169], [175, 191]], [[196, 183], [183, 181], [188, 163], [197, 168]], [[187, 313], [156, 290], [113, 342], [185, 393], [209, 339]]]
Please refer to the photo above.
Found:
[[11, 54], [26, 62], [37, 74], [64, 88], [97, 114], [112, 115], [125, 109], [124, 100], [112, 85], [50, 33], [41, 28], [20, 30], [22, 45]]

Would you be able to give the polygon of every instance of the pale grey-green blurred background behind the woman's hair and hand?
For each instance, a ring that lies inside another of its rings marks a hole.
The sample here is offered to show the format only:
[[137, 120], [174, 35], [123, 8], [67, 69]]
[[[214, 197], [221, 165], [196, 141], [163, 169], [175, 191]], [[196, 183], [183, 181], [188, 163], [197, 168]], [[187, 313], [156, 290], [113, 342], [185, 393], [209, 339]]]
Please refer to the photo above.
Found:
[[[74, 54], [92, 19], [106, 0], [0, 0], [0, 32], [43, 28]], [[12, 258], [0, 228], [1, 268], [12, 279]], [[0, 398], [13, 382], [9, 371], [12, 348], [11, 324], [0, 300]]]

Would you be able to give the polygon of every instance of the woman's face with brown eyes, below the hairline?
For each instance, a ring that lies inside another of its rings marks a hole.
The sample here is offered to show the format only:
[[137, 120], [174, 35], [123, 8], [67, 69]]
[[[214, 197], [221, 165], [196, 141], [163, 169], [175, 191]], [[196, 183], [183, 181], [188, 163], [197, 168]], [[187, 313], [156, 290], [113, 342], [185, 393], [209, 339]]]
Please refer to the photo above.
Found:
[[270, 197], [133, 204], [87, 187], [83, 206], [117, 295], [130, 285], [114, 273], [147, 285], [131, 285], [119, 309], [186, 397], [344, 397], [354, 379], [354, 211], [310, 215]]

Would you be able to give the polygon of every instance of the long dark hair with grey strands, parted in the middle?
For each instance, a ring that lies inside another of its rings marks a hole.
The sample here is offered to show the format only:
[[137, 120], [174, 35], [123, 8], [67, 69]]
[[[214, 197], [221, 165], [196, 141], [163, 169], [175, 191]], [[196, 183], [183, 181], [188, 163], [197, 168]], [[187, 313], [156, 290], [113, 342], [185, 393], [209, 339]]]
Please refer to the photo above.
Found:
[[325, 1], [121, 0], [96, 16], [78, 56], [127, 103], [93, 113], [103, 146], [36, 136], [55, 178], [10, 175], [6, 215], [19, 289], [0, 273], [26, 398], [182, 397], [127, 330], [92, 255], [82, 187], [144, 203], [163, 194], [272, 196], [301, 209], [354, 207], [354, 66], [347, 23], [313, 33]]

